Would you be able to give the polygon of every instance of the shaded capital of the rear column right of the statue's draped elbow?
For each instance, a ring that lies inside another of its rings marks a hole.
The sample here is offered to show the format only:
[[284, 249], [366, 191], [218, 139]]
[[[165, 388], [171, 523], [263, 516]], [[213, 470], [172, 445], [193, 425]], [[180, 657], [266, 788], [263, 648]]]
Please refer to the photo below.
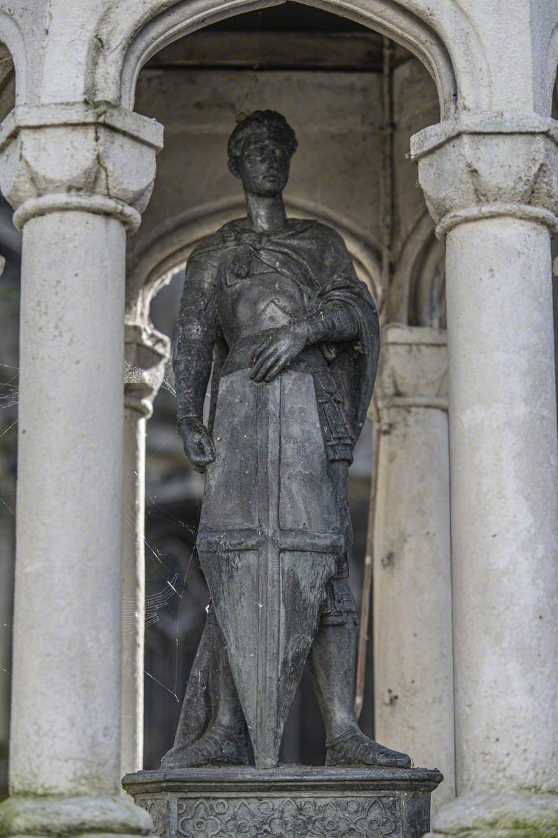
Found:
[[400, 323], [385, 326], [375, 399], [380, 415], [392, 407], [447, 411], [446, 330]]

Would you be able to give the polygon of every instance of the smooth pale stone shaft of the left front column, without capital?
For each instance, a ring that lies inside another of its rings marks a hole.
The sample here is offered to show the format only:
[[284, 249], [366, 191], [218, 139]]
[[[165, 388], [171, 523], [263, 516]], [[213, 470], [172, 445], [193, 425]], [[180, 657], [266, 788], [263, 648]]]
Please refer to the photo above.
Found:
[[12, 794], [118, 791], [124, 254], [106, 215], [23, 231]]

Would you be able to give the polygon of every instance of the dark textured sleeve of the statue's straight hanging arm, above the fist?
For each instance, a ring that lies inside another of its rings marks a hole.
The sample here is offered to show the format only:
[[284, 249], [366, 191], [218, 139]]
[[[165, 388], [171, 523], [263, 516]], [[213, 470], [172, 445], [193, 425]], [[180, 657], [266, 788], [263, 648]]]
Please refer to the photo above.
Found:
[[194, 416], [203, 422], [204, 399], [211, 375], [217, 339], [216, 276], [214, 254], [194, 251], [186, 267], [180, 313], [174, 329], [173, 370], [176, 381], [177, 421]]

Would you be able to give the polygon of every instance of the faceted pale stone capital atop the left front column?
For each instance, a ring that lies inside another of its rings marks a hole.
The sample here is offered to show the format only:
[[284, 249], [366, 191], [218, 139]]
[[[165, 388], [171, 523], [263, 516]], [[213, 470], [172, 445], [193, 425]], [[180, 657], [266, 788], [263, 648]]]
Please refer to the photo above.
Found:
[[134, 232], [162, 147], [158, 122], [109, 102], [15, 107], [0, 126], [0, 188], [14, 225], [77, 209], [115, 216]]

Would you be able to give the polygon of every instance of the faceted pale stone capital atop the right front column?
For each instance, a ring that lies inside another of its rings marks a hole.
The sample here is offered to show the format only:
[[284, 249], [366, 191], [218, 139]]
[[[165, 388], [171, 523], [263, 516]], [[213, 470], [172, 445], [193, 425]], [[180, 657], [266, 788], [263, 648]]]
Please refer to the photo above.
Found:
[[464, 221], [512, 217], [558, 233], [558, 122], [477, 112], [411, 137], [438, 238]]

